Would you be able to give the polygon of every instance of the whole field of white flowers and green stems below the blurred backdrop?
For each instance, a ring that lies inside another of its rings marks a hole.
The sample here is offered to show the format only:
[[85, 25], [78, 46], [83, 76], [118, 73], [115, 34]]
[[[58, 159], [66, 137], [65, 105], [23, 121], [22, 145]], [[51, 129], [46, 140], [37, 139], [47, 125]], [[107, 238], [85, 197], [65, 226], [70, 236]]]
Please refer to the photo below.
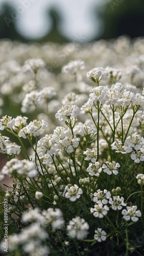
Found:
[[144, 255], [144, 39], [0, 54], [1, 253]]

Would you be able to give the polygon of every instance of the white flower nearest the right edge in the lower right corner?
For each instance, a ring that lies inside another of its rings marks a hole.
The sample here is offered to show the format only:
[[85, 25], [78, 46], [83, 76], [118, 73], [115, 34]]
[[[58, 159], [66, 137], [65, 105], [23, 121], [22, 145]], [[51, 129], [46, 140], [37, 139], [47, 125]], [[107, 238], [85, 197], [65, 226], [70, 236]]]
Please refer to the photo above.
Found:
[[136, 205], [133, 205], [127, 206], [126, 209], [123, 209], [122, 215], [123, 219], [125, 219], [126, 221], [129, 221], [131, 219], [133, 222], [136, 222], [138, 221], [138, 217], [141, 217], [141, 212], [140, 210], [137, 210]]

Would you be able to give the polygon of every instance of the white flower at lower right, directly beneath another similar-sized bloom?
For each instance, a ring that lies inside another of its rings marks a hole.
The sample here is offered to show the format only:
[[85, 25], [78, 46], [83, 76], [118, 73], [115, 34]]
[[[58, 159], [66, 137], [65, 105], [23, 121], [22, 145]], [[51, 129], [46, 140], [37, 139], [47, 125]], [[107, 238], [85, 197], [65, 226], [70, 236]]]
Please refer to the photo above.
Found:
[[107, 205], [95, 204], [94, 208], [90, 208], [91, 214], [94, 215], [95, 218], [103, 218], [107, 215], [107, 211], [109, 211], [109, 207]]

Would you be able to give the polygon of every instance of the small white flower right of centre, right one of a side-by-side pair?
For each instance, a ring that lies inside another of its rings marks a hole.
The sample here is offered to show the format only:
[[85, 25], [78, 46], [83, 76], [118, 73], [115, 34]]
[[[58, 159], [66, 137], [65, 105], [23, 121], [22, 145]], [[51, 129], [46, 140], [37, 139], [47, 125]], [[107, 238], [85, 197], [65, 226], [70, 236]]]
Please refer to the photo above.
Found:
[[118, 174], [118, 168], [121, 167], [119, 163], [116, 163], [115, 161], [109, 162], [106, 161], [105, 164], [102, 165], [103, 172], [107, 173], [108, 175], [111, 175], [112, 173], [114, 175]]

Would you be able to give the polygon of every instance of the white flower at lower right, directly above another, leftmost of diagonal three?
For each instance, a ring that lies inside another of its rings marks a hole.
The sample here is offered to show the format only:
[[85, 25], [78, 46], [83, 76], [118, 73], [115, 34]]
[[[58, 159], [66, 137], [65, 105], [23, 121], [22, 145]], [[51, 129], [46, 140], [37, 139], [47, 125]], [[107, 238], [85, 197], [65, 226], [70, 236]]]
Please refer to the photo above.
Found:
[[111, 198], [110, 191], [104, 189], [103, 191], [98, 189], [97, 192], [93, 194], [93, 201], [97, 204], [107, 204], [108, 199]]

